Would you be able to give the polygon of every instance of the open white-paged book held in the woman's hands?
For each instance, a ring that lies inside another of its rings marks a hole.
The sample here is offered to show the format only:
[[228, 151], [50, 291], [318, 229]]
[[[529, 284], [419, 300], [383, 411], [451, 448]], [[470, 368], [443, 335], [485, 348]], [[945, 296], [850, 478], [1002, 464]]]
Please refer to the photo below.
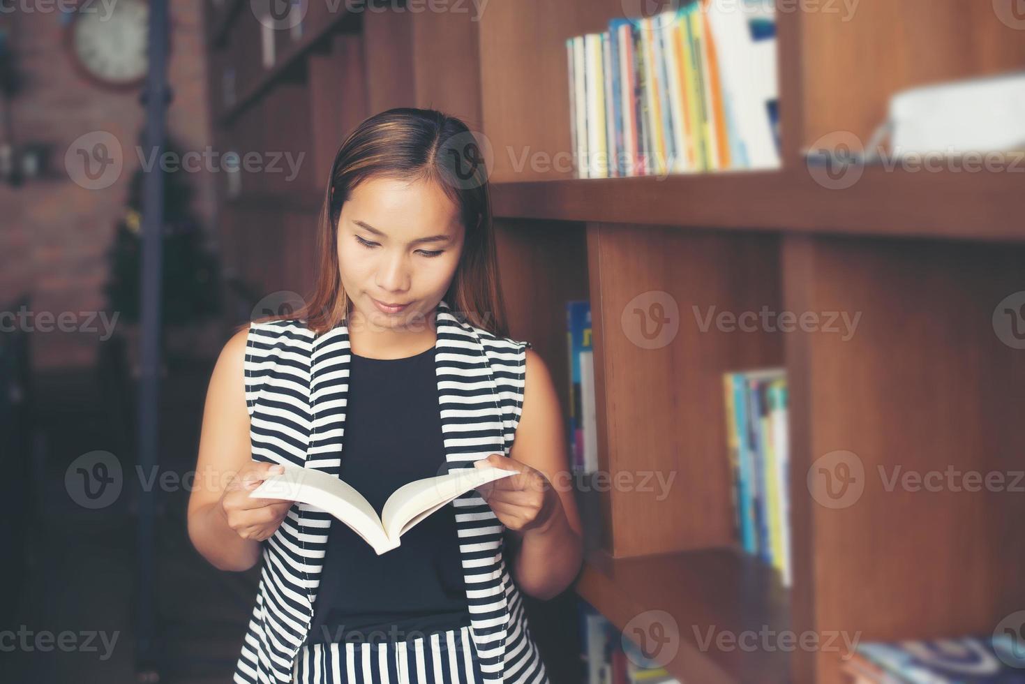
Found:
[[315, 506], [345, 523], [373, 547], [378, 556], [399, 546], [399, 537], [463, 492], [500, 480], [516, 471], [488, 466], [460, 468], [448, 475], [414, 480], [396, 489], [380, 517], [363, 494], [337, 476], [313, 468], [282, 464], [249, 497], [285, 498]]

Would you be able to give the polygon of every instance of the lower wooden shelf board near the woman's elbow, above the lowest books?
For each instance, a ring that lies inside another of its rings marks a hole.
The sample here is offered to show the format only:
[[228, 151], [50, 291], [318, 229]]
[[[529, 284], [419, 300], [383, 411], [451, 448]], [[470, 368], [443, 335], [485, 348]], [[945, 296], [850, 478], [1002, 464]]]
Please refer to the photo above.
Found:
[[[790, 653], [761, 647], [763, 634], [775, 639], [773, 633], [789, 629], [789, 592], [776, 577], [772, 568], [733, 549], [621, 559], [589, 550], [576, 591], [620, 631], [646, 611], [669, 613], [675, 626], [662, 628], [666, 636], [674, 629], [680, 649], [666, 669], [681, 680], [774, 684], [790, 681]], [[755, 635], [746, 637], [744, 647], [725, 640], [719, 647], [720, 635], [744, 634]]]

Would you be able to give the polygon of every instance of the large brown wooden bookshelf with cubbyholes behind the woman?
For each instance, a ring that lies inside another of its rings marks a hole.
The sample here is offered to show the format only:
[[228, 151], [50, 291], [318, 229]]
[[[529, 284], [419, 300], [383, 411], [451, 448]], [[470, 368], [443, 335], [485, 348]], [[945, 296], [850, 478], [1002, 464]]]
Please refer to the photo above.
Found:
[[[247, 174], [232, 199], [221, 182], [225, 269], [261, 295], [309, 291], [344, 134], [391, 107], [459, 116], [496, 151], [514, 336], [535, 344], [568, 410], [565, 301], [589, 299], [600, 468], [674, 476], [662, 499], [615, 488], [581, 497], [588, 552], [573, 592], [619, 629], [649, 611], [671, 615], [680, 649], [668, 669], [688, 682], [844, 681], [842, 653], [702, 646], [696, 635], [709, 629], [862, 641], [990, 633], [1025, 607], [1025, 540], [1014, 529], [1025, 497], [888, 491], [876, 473], [1020, 470], [1025, 356], [993, 315], [1025, 290], [1025, 174], [869, 166], [836, 189], [803, 158], [825, 134], [867, 139], [896, 90], [1025, 65], [1025, 34], [991, 3], [971, 4], [863, 0], [847, 17], [781, 3], [779, 170], [579, 179], [517, 160], [571, 152], [565, 40], [604, 30], [621, 0], [492, 0], [480, 16], [330, 14], [311, 3], [298, 41], [277, 36], [271, 69], [247, 4], [224, 0], [208, 16], [215, 146], [306, 155], [291, 182]], [[676, 329], [648, 349], [630, 311], [655, 301], [671, 303]], [[847, 312], [860, 323], [850, 339], [702, 329], [694, 312], [712, 307]], [[789, 590], [737, 552], [733, 532], [721, 378], [770, 365], [785, 366], [790, 387]], [[835, 450], [865, 469], [848, 508], [816, 502], [807, 482]], [[541, 646], [552, 684], [569, 684], [575, 654]]]

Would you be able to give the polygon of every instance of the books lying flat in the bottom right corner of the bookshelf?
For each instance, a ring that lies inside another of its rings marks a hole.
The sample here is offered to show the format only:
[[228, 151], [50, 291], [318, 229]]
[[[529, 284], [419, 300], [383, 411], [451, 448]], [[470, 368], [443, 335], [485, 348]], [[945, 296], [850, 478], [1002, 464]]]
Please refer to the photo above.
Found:
[[1025, 684], [1017, 634], [858, 644], [843, 667], [853, 684]]

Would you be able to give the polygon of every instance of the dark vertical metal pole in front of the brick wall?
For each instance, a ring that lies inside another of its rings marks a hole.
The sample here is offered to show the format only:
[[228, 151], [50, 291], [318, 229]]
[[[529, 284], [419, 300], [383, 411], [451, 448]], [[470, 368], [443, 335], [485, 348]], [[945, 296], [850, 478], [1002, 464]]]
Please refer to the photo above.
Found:
[[[146, 103], [147, 153], [164, 150], [167, 90], [167, 0], [150, 0], [149, 74]], [[141, 369], [138, 402], [138, 465], [144, 473], [155, 472], [158, 461], [160, 391], [160, 322], [162, 281], [162, 233], [164, 230], [164, 177], [157, 164], [142, 185]], [[147, 479], [146, 481], [152, 481]], [[157, 492], [142, 488], [138, 498], [138, 593], [136, 596], [136, 663], [140, 672], [159, 673], [154, 610], [156, 544], [154, 512]], [[159, 675], [158, 675], [159, 676]], [[149, 678], [148, 678], [149, 679]]]

